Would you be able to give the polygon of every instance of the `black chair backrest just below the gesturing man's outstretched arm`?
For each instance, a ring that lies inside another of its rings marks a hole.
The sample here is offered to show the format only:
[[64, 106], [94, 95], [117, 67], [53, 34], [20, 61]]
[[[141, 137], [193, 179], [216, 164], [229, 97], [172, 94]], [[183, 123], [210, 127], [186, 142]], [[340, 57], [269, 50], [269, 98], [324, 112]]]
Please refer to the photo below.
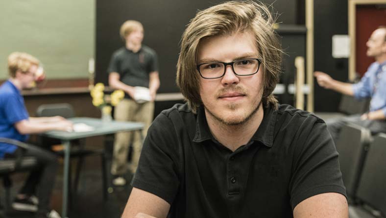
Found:
[[339, 102], [339, 111], [345, 114], [362, 114], [368, 111], [370, 99], [357, 100], [354, 96], [342, 95]]

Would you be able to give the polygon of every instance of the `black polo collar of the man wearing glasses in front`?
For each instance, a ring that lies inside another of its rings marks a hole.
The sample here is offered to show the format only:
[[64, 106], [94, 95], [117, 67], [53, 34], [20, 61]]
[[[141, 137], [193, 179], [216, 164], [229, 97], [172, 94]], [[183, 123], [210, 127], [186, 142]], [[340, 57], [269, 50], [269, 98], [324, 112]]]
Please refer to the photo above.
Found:
[[[265, 108], [264, 106], [263, 109], [264, 117], [262, 123], [260, 124], [259, 129], [252, 136], [251, 141], [259, 141], [267, 147], [272, 147], [277, 111], [272, 108]], [[204, 107], [201, 106], [197, 111], [196, 130], [193, 141], [202, 142], [210, 139], [216, 140], [209, 130]], [[250, 144], [250, 142], [248, 144]]]

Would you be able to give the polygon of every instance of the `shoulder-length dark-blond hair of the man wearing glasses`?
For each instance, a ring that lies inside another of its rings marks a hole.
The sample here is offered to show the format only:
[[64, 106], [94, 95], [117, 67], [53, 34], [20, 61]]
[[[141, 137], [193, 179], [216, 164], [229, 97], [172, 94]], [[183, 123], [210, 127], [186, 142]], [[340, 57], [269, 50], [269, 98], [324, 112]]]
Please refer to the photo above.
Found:
[[272, 94], [281, 73], [282, 49], [273, 26], [275, 19], [263, 3], [228, 1], [199, 11], [190, 21], [181, 39], [177, 63], [177, 85], [193, 112], [202, 105], [199, 94], [199, 74], [196, 71], [197, 48], [200, 40], [211, 36], [251, 32], [263, 67], [263, 105], [277, 109]]

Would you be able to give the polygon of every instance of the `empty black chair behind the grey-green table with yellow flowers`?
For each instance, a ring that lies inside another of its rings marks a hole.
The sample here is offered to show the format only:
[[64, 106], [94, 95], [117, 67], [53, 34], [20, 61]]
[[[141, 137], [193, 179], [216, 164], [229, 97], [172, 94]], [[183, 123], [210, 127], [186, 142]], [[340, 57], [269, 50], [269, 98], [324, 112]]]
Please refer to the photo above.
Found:
[[[38, 107], [36, 110], [36, 116], [42, 117], [42, 116], [62, 116], [64, 118], [72, 118], [75, 116], [74, 110], [70, 104], [67, 103], [61, 103], [61, 104], [46, 104], [46, 105], [41, 105]], [[56, 145], [56, 144], [61, 144], [61, 141], [58, 139], [52, 139], [48, 138], [45, 136], [39, 136], [38, 137], [39, 144], [41, 145]], [[87, 156], [92, 156], [92, 155], [99, 155], [101, 157], [101, 170], [102, 170], [102, 189], [103, 189], [103, 199], [107, 199], [108, 194], [107, 194], [107, 162], [106, 162], [106, 156], [104, 149], [99, 149], [99, 150], [90, 150], [86, 149], [84, 147], [85, 145], [85, 140], [83, 139], [78, 139], [78, 140], [72, 140], [71, 141], [71, 153], [70, 157], [71, 158], [77, 158], [78, 163], [76, 166], [76, 171], [75, 171], [75, 181], [74, 181], [74, 192], [76, 193], [78, 190], [78, 184], [79, 184], [79, 176], [80, 176], [80, 171], [84, 163], [84, 158]], [[64, 150], [56, 151], [56, 153], [64, 157]], [[70, 164], [71, 167], [71, 164]], [[69, 196], [71, 199], [72, 196], [72, 189], [71, 189], [71, 169], [70, 169], [70, 176], [69, 176]]]

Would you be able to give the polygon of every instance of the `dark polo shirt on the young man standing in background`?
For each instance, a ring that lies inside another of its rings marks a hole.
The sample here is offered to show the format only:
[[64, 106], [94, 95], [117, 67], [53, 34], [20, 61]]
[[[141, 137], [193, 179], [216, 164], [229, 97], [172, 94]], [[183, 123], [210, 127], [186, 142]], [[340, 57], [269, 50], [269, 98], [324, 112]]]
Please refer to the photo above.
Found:
[[158, 71], [157, 54], [145, 45], [142, 45], [137, 53], [126, 47], [117, 50], [112, 55], [107, 69], [108, 73], [119, 73], [121, 82], [143, 87], [149, 87], [149, 73], [153, 71]]

